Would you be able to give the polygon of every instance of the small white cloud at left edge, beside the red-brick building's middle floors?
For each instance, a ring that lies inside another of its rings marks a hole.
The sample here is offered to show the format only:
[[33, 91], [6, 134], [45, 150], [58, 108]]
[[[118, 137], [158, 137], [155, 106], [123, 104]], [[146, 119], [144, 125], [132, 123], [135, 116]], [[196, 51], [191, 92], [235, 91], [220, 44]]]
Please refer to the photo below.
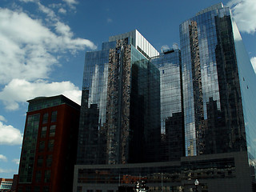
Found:
[[0, 122], [0, 145], [21, 145], [22, 133], [13, 126], [6, 126]]

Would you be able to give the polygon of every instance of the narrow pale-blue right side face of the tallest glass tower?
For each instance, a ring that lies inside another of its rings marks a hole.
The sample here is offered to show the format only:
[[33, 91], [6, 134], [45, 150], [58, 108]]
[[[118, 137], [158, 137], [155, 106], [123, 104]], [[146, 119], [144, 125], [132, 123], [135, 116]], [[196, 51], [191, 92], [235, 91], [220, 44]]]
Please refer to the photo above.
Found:
[[243, 45], [238, 27], [232, 22], [234, 46], [238, 63], [239, 82], [242, 94], [242, 110], [246, 127], [246, 142], [251, 175], [255, 178], [256, 167], [256, 75], [250, 63], [250, 58]]

